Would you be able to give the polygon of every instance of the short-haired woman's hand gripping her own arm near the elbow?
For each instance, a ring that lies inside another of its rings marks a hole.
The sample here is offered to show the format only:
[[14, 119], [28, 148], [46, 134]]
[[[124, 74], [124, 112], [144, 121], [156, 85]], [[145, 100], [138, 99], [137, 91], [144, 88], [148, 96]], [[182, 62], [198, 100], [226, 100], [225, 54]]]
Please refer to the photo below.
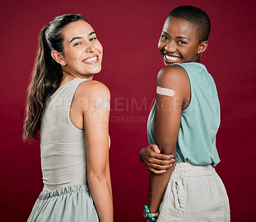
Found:
[[150, 144], [146, 148], [140, 150], [140, 161], [146, 168], [155, 174], [166, 173], [166, 170], [172, 168], [175, 162], [174, 155], [160, 154], [160, 150], [156, 144]]

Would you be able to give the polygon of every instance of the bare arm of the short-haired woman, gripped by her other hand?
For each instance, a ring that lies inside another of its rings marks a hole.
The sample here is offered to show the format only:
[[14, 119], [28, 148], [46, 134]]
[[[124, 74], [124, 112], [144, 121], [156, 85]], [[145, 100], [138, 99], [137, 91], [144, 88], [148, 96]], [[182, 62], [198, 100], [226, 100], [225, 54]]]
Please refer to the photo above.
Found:
[[[177, 65], [162, 68], [157, 76], [157, 86], [172, 89], [175, 91], [175, 95], [172, 97], [159, 94], [156, 95], [156, 144], [160, 148], [162, 154], [172, 154], [175, 156], [175, 159], [182, 104], [190, 91], [188, 81], [186, 71]], [[168, 169], [163, 175], [150, 173], [148, 194], [148, 207], [150, 212], [155, 213], [158, 211], [161, 198], [175, 165], [176, 161], [173, 164], [173, 167]]]

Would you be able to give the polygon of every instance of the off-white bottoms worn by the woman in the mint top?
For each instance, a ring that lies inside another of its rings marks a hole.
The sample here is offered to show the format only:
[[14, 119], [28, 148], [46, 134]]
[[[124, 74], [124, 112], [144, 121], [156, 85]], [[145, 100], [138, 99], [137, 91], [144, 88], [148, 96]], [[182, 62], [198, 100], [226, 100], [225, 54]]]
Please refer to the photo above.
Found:
[[176, 164], [159, 212], [157, 222], [230, 221], [227, 192], [211, 164]]

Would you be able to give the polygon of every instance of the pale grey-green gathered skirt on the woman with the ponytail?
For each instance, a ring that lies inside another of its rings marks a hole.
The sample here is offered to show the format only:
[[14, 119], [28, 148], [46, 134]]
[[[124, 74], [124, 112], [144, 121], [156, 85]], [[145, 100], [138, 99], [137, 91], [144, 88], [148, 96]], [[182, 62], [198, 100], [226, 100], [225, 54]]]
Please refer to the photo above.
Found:
[[40, 193], [28, 222], [99, 222], [87, 185], [61, 187]]

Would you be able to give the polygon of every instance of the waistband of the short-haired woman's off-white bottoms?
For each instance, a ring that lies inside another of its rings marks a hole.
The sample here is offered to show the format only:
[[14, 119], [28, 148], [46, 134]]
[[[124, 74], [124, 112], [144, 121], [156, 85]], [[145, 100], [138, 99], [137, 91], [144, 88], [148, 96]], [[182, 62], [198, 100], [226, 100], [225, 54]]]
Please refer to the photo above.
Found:
[[191, 163], [177, 163], [170, 179], [196, 177], [196, 176], [210, 176], [216, 173], [211, 164], [198, 166]]

